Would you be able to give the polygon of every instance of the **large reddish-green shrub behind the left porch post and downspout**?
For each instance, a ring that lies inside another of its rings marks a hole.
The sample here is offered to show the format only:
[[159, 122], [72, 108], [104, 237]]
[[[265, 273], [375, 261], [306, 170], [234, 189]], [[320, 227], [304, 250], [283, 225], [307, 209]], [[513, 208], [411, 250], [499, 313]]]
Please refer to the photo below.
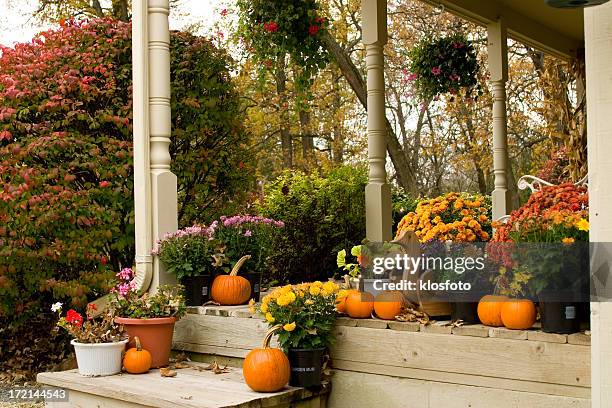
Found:
[[[186, 33], [171, 49], [171, 154], [191, 225], [239, 202], [252, 172], [227, 55]], [[131, 25], [68, 22], [1, 53], [0, 320], [52, 300], [83, 308], [134, 258]]]

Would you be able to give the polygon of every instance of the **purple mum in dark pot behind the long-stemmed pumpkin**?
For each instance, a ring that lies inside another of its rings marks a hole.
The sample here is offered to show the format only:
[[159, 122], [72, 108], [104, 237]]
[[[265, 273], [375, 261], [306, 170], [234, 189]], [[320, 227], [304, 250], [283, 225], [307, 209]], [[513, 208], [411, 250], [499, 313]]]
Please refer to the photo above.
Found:
[[285, 223], [256, 215], [221, 217], [209, 227], [214, 243], [213, 265], [221, 273], [235, 270], [240, 263], [244, 277], [251, 285], [251, 297], [259, 301], [259, 293], [266, 270], [271, 244]]

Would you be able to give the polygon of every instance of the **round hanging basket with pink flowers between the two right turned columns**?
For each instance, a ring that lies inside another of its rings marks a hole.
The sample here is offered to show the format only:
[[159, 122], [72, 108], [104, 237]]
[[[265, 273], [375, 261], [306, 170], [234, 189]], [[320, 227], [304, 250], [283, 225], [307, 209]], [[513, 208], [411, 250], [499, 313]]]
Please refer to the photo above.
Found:
[[408, 54], [407, 79], [423, 100], [472, 90], [478, 84], [476, 50], [462, 34], [424, 39]]

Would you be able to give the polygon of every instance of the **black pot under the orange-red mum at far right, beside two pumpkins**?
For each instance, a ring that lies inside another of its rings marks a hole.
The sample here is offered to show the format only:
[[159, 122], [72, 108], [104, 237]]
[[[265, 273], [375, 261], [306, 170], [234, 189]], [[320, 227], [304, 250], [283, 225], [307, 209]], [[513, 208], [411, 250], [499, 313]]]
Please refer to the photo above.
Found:
[[543, 291], [539, 295], [542, 331], [570, 334], [580, 331], [582, 304], [573, 293]]

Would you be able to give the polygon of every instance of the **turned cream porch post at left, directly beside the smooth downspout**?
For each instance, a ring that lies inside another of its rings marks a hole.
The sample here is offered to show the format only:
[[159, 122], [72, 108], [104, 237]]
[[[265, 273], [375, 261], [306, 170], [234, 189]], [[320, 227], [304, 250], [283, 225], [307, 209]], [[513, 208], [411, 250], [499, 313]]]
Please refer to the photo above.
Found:
[[[148, 0], [149, 134], [151, 163], [151, 231], [157, 241], [178, 228], [177, 180], [170, 171], [170, 29], [169, 0]], [[149, 291], [174, 283], [157, 257]]]

